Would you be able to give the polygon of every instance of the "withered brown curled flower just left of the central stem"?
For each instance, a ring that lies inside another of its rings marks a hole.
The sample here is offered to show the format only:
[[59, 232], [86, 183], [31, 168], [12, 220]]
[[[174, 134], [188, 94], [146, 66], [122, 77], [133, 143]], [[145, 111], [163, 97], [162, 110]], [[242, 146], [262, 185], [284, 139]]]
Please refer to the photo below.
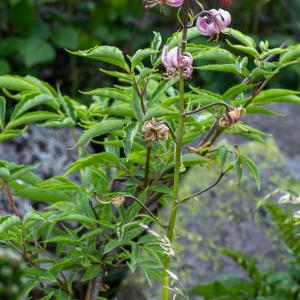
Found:
[[169, 137], [168, 126], [162, 122], [156, 122], [154, 119], [146, 121], [142, 130], [147, 142], [166, 141]]

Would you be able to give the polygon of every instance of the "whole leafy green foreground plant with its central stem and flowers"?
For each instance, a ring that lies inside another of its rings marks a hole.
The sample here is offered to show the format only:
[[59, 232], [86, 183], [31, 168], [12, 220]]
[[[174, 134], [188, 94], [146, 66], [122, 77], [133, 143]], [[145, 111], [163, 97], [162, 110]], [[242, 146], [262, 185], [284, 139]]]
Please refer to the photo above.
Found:
[[[199, 18], [210, 14], [200, 11]], [[0, 219], [1, 243], [27, 263], [29, 295], [111, 297], [107, 275], [128, 267], [141, 268], [149, 281], [153, 276], [163, 280], [163, 297], [169, 299], [170, 291], [180, 292], [170, 282], [170, 277], [176, 279], [170, 257], [175, 254], [177, 209], [215, 187], [233, 169], [239, 181], [248, 168], [260, 186], [255, 163], [237, 146], [227, 149], [215, 141], [222, 134], [263, 141], [263, 132], [240, 122], [246, 111], [276, 115], [264, 105], [300, 103], [298, 91], [264, 90], [283, 68], [299, 63], [300, 46], [257, 46], [232, 28], [219, 28], [226, 34], [224, 47], [193, 43], [199, 36], [199, 28], [191, 26], [196, 17], [185, 0], [183, 28], [167, 40], [162, 57], [157, 32], [148, 48], [132, 56], [125, 57], [113, 46], [70, 51], [104, 63], [101, 72], [118, 80], [112, 87], [82, 92], [90, 97], [89, 104], [32, 76], [0, 76], [1, 142], [38, 123], [70, 128], [78, 150], [78, 159], [63, 175], [47, 180], [38, 177], [33, 166], [1, 161], [2, 189], [14, 214]], [[194, 72], [230, 73], [239, 83], [222, 94], [188, 86], [192, 61]], [[162, 62], [167, 74], [160, 70]], [[8, 101], [17, 103], [9, 115]], [[79, 139], [75, 126], [84, 130]], [[189, 147], [193, 142], [199, 145]], [[91, 143], [97, 153], [87, 147]], [[212, 185], [193, 195], [180, 192], [180, 178], [190, 167], [201, 165], [205, 172], [214, 164], [219, 174]], [[46, 207], [23, 217], [15, 197], [44, 202]], [[171, 207], [168, 221], [159, 216], [161, 205]], [[153, 223], [160, 231], [149, 228]]]

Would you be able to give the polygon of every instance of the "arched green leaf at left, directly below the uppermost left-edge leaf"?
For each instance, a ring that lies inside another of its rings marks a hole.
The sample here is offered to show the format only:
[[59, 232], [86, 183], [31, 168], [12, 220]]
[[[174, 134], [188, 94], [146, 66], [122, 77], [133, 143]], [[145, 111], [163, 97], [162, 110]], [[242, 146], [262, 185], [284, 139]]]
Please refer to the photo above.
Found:
[[16, 119], [24, 112], [30, 110], [31, 108], [45, 104], [54, 109], [59, 108], [59, 103], [53, 99], [53, 96], [47, 94], [39, 94], [39, 95], [26, 95], [24, 98], [15, 106], [12, 114], [11, 120]]

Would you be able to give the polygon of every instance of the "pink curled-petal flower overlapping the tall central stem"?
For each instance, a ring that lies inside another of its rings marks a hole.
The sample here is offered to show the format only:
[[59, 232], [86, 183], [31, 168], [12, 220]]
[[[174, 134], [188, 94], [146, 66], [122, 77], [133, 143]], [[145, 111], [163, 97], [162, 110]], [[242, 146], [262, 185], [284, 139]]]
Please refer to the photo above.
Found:
[[191, 77], [193, 73], [193, 57], [190, 53], [181, 54], [178, 47], [168, 50], [165, 46], [162, 52], [162, 62], [167, 70], [169, 78], [183, 75], [184, 78]]

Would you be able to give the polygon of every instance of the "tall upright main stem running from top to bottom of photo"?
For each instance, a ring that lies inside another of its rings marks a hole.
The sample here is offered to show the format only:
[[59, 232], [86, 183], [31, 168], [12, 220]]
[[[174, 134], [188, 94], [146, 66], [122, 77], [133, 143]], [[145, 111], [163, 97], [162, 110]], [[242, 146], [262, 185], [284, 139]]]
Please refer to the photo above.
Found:
[[[185, 52], [187, 43], [187, 31], [189, 23], [189, 0], [184, 1], [183, 6], [183, 33], [181, 40], [181, 53]], [[179, 185], [180, 185], [180, 165], [181, 165], [181, 151], [182, 151], [182, 140], [184, 134], [184, 77], [181, 74], [179, 79], [179, 124], [178, 124], [178, 136], [175, 143], [175, 161], [174, 161], [174, 183], [173, 183], [173, 200], [171, 215], [169, 219], [169, 226], [167, 230], [167, 237], [172, 243], [174, 236], [174, 228], [177, 215], [177, 204], [179, 200]], [[164, 265], [163, 265], [163, 300], [169, 300], [169, 274], [168, 270], [170, 267], [170, 256], [165, 254]]]

